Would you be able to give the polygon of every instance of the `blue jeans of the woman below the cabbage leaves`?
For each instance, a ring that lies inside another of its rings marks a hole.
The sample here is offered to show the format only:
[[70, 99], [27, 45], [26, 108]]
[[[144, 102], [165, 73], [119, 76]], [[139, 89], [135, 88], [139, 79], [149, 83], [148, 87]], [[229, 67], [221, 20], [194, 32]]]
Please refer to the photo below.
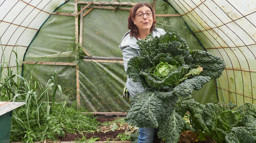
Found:
[[[157, 132], [159, 130], [156, 128], [139, 128], [139, 139], [138, 143], [153, 143], [154, 136], [157, 136]], [[156, 141], [156, 140], [155, 140]], [[155, 143], [154, 141], [154, 143]], [[159, 139], [158, 142], [160, 143], [161, 140]]]

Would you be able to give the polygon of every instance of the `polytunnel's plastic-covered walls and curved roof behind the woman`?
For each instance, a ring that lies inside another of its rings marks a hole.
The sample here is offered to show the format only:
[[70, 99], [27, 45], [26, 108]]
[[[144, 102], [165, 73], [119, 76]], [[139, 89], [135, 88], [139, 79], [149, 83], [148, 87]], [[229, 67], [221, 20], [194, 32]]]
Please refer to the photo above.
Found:
[[[256, 99], [256, 1], [146, 0], [156, 27], [180, 34], [190, 49], [226, 63], [192, 98], [200, 103]], [[90, 112], [126, 112], [127, 75], [118, 48], [139, 1], [0, 0], [1, 83], [13, 74], [45, 86], [54, 71], [68, 103]], [[11, 71], [11, 72], [10, 72]], [[4, 98], [1, 91], [1, 101]]]

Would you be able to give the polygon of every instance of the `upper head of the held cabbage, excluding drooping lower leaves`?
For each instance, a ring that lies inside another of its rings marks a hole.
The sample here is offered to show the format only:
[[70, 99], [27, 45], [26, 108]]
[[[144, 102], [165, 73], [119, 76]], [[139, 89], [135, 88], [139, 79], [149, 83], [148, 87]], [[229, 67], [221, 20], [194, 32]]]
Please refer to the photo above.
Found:
[[184, 80], [199, 75], [209, 80], [219, 78], [225, 68], [221, 58], [205, 51], [190, 50], [176, 33], [167, 32], [155, 38], [149, 34], [146, 40], [137, 43], [140, 56], [128, 61], [126, 73], [150, 91], [170, 92]]

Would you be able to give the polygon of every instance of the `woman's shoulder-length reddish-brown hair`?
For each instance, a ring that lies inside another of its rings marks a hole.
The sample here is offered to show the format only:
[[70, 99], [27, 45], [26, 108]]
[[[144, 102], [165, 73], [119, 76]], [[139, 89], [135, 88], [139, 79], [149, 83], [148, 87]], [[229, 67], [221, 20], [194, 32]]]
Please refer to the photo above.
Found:
[[[137, 28], [137, 26], [134, 24], [133, 19], [135, 19], [135, 15], [136, 15], [136, 11], [143, 6], [147, 6], [150, 8], [151, 11], [153, 11], [152, 6], [147, 3], [147, 2], [139, 2], [138, 4], [136, 4], [135, 6], [133, 6], [130, 10], [130, 14], [128, 16], [128, 29], [130, 29], [130, 37], [135, 37], [138, 40], [138, 35], [139, 35], [139, 30]], [[152, 12], [152, 16], [153, 16], [153, 24], [150, 28], [150, 33], [153, 32], [154, 28], [155, 28], [155, 24], [156, 22], [156, 18], [154, 16], [154, 12]]]

